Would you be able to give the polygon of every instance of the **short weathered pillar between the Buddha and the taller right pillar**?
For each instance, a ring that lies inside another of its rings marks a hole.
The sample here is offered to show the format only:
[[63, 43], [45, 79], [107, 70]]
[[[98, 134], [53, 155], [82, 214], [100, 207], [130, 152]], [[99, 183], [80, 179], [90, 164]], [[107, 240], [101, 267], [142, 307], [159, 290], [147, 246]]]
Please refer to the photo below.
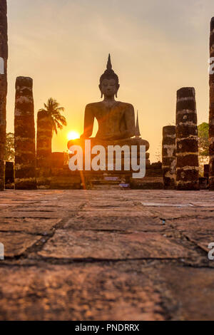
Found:
[[163, 127], [162, 163], [163, 186], [165, 190], [174, 190], [176, 182], [175, 125]]

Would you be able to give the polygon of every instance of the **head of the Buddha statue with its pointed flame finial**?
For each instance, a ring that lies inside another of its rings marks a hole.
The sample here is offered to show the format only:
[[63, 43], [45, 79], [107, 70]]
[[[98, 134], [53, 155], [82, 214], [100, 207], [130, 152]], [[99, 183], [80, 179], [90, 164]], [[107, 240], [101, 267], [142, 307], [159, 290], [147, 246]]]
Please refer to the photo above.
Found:
[[100, 78], [99, 88], [101, 90], [101, 98], [103, 98], [103, 96], [106, 98], [113, 98], [114, 96], [117, 97], [119, 87], [119, 78], [112, 70], [111, 56], [109, 54], [106, 71]]

